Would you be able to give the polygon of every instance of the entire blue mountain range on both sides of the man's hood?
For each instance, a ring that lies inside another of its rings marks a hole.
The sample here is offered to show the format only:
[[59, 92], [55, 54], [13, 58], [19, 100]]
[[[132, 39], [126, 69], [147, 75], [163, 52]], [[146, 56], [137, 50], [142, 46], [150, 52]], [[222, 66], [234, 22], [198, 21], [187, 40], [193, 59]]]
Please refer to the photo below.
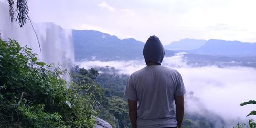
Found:
[[[75, 61], [129, 61], [143, 60], [144, 43], [133, 38], [119, 39], [107, 33], [94, 30], [72, 30]], [[185, 44], [193, 44], [184, 39]], [[256, 67], [255, 43], [240, 41], [225, 41], [210, 39], [202, 41], [194, 50], [165, 50], [165, 57], [173, 56], [176, 52], [186, 52], [184, 59], [191, 66], [249, 66]], [[181, 43], [182, 44], [182, 43]], [[184, 42], [183, 42], [184, 44]], [[176, 42], [179, 45], [179, 41]], [[165, 47], [165, 46], [164, 46]], [[185, 47], [183, 47], [185, 48]], [[190, 48], [190, 49], [191, 49]], [[165, 47], [166, 49], [166, 47]]]

